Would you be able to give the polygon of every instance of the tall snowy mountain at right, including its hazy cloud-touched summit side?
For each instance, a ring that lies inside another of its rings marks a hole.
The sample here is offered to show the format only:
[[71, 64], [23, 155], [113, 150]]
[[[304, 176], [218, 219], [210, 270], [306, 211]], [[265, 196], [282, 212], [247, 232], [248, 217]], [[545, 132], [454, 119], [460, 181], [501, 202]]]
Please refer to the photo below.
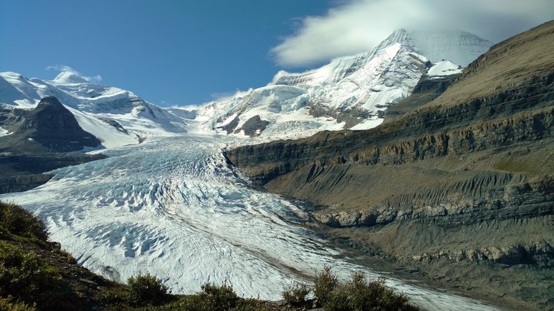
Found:
[[197, 119], [206, 131], [268, 138], [370, 129], [389, 106], [410, 95], [431, 62], [458, 63], [444, 62], [430, 75], [456, 74], [458, 65], [466, 66], [491, 45], [468, 32], [396, 30], [368, 53], [339, 57], [305, 73], [282, 70], [267, 86], [208, 104]]

